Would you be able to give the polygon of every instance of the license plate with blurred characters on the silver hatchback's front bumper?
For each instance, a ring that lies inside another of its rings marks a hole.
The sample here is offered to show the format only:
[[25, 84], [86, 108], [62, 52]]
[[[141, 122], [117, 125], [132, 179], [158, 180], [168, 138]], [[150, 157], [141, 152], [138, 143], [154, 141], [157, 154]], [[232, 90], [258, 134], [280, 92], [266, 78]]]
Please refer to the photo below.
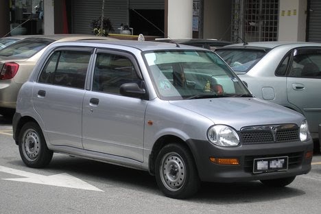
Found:
[[266, 173], [272, 171], [287, 171], [289, 157], [255, 158], [253, 173]]

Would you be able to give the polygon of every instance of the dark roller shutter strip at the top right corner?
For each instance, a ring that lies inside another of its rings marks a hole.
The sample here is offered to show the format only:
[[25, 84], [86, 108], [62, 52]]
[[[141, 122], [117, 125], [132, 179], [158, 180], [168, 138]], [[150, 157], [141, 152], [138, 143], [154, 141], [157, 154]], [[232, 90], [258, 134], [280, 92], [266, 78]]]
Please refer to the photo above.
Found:
[[321, 1], [308, 1], [307, 41], [321, 42]]

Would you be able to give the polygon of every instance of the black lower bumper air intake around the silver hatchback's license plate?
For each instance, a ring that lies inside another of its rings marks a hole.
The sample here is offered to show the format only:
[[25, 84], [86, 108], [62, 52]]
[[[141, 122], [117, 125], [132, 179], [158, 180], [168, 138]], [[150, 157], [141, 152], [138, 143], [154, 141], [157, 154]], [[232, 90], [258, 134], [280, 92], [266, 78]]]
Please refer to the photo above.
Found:
[[294, 153], [287, 153], [287, 154], [272, 154], [272, 155], [263, 155], [263, 156], [245, 156], [244, 158], [244, 171], [248, 173], [253, 172], [253, 161], [255, 158], [273, 158], [276, 156], [288, 156], [289, 163], [288, 169], [294, 169], [299, 167], [302, 164], [302, 156], [303, 152], [294, 152]]

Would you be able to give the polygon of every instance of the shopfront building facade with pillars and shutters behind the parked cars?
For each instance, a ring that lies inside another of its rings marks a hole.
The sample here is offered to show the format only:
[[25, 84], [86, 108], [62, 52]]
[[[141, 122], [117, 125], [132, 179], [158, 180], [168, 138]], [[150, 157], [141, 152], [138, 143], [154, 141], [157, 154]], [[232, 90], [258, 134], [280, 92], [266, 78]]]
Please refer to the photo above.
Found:
[[114, 34], [321, 42], [318, 0], [5, 0], [0, 36], [92, 34], [102, 15]]

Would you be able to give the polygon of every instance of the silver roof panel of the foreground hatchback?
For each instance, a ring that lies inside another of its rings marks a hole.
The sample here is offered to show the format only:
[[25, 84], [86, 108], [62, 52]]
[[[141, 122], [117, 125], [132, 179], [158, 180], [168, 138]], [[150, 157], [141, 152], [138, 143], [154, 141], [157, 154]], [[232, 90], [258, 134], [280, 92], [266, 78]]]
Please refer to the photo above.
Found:
[[74, 40], [66, 43], [60, 43], [60, 40], [56, 42], [60, 45], [88, 45], [104, 47], [104, 45], [115, 45], [123, 47], [131, 47], [134, 49], [139, 49], [141, 51], [153, 51], [159, 49], [200, 49], [205, 50], [200, 47], [192, 47], [189, 45], [179, 45], [174, 43], [158, 43], [154, 41], [138, 41], [138, 40]]

